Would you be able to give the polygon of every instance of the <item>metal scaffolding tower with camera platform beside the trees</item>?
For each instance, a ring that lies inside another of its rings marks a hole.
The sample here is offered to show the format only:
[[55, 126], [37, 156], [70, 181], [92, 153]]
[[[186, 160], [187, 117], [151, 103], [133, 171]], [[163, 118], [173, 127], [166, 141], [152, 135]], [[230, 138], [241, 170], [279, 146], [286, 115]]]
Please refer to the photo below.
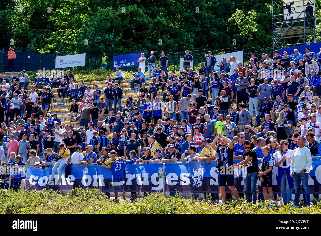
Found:
[[[309, 16], [305, 12], [307, 3], [310, 3], [315, 11], [314, 0], [282, 0], [282, 2], [286, 5], [282, 6], [272, 0], [273, 50], [274, 47], [283, 48], [307, 44], [307, 42], [314, 43], [317, 20], [319, 19], [316, 19], [315, 14]], [[282, 14], [274, 14], [274, 12], [280, 10], [282, 10]], [[313, 23], [308, 22], [308, 18]]]

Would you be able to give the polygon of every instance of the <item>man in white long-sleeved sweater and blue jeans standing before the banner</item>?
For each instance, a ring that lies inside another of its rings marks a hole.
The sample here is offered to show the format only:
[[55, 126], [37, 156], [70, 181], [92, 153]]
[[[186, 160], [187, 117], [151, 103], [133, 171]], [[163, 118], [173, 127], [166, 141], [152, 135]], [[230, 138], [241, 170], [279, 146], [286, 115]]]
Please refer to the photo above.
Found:
[[290, 173], [291, 177], [293, 177], [294, 181], [294, 206], [299, 206], [299, 198], [300, 198], [300, 183], [302, 181], [302, 187], [305, 191], [305, 196], [307, 200], [307, 206], [310, 205], [310, 190], [308, 186], [308, 179], [310, 172], [310, 166], [312, 165], [312, 157], [310, 150], [304, 146], [305, 137], [298, 137], [298, 148], [294, 149]]

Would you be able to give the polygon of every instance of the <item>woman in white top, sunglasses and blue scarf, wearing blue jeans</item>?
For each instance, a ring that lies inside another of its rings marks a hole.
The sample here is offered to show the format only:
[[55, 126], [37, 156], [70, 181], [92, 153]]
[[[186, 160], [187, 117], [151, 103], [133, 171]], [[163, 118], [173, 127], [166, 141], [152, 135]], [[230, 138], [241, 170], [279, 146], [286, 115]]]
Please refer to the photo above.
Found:
[[277, 185], [281, 188], [284, 205], [289, 204], [292, 198], [293, 178], [290, 176], [290, 167], [293, 150], [289, 149], [289, 142], [281, 140], [280, 150], [273, 154], [274, 165], [278, 167]]

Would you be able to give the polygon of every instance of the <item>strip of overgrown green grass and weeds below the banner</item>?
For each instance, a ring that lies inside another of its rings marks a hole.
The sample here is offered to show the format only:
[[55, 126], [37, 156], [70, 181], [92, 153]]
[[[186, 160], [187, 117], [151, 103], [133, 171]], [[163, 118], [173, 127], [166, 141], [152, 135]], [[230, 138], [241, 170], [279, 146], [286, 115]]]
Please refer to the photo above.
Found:
[[65, 196], [56, 191], [18, 192], [0, 190], [1, 214], [321, 214], [321, 201], [308, 208], [251, 206], [231, 202], [225, 206], [210, 201], [151, 194], [136, 200], [114, 202], [98, 188], [75, 188]]

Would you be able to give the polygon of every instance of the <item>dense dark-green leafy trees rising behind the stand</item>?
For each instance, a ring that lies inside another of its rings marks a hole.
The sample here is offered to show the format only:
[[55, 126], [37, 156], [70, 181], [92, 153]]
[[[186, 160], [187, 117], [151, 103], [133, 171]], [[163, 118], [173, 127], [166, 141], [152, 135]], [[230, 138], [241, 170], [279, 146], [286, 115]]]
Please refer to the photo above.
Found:
[[40, 53], [117, 55], [272, 43], [267, 0], [3, 0], [0, 19], [0, 48], [13, 39], [15, 50]]

